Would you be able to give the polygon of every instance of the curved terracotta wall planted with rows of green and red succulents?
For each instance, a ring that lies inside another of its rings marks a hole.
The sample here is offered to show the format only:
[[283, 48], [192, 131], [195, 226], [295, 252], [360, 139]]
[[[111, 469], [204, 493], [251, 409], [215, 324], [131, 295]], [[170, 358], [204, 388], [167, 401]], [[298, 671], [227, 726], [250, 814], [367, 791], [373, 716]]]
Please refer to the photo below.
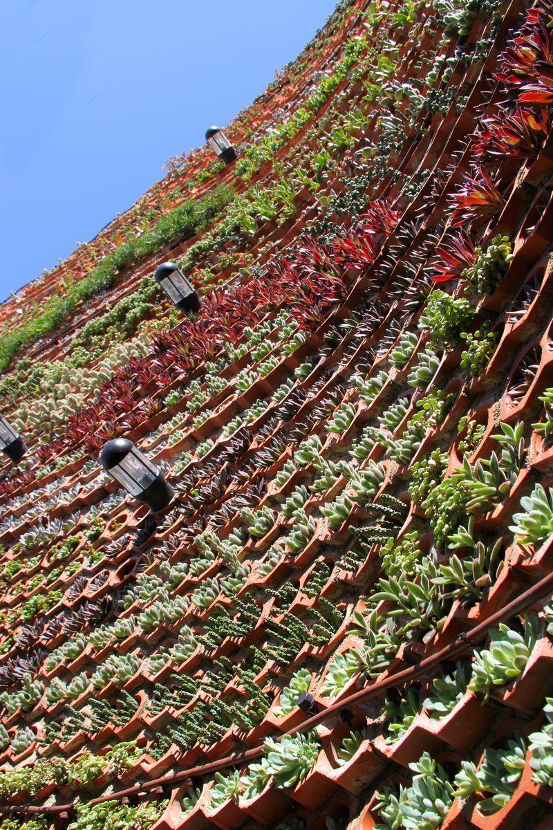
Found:
[[0, 306], [0, 828], [551, 830], [553, 2], [342, 0], [226, 134]]

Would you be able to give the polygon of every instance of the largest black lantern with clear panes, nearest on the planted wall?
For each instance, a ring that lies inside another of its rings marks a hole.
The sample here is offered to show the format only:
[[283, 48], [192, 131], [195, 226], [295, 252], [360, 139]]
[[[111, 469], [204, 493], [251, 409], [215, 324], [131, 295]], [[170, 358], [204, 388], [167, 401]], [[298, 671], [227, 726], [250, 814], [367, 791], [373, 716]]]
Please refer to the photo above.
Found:
[[163, 510], [174, 495], [162, 471], [143, 455], [128, 438], [114, 438], [104, 444], [99, 460], [104, 470], [130, 496], [143, 501], [150, 510]]

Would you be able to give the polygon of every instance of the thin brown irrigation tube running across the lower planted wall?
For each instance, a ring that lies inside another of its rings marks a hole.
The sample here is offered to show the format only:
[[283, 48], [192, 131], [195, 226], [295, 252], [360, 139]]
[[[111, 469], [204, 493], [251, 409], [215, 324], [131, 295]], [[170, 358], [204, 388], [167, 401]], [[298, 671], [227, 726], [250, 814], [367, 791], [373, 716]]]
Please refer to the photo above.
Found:
[[[312, 715], [312, 717], [308, 718], [308, 720], [304, 720], [302, 724], [294, 727], [294, 729], [289, 730], [288, 732], [283, 732], [281, 735], [276, 737], [276, 740], [281, 740], [285, 735], [297, 735], [298, 732], [311, 730], [314, 726], [323, 723], [324, 720], [327, 720], [333, 715], [337, 715], [339, 712], [349, 709], [352, 706], [356, 706], [359, 703], [364, 703], [365, 701], [370, 700], [371, 697], [381, 695], [381, 693], [387, 689], [409, 684], [425, 672], [435, 669], [441, 662], [453, 660], [455, 657], [458, 657], [459, 654], [465, 652], [468, 648], [475, 646], [478, 641], [482, 639], [483, 635], [488, 632], [489, 628], [492, 628], [498, 623], [505, 623], [517, 613], [521, 613], [521, 611], [524, 611], [526, 608], [531, 606], [538, 599], [546, 596], [547, 593], [551, 593], [551, 590], [553, 590], [553, 573], [548, 574], [535, 585], [532, 585], [531, 588], [528, 588], [524, 593], [521, 593], [517, 598], [513, 599], [512, 602], [507, 603], [504, 608], [501, 608], [496, 613], [493, 613], [487, 620], [484, 620], [483, 623], [478, 623], [478, 625], [471, 628], [470, 631], [461, 634], [454, 642], [451, 642], [449, 646], [445, 646], [440, 649], [439, 652], [436, 652], [429, 657], [424, 657], [424, 659], [419, 663], [416, 663], [415, 666], [409, 666], [406, 669], [402, 669], [402, 671], [397, 671], [394, 675], [385, 677], [383, 680], [376, 681], [376, 683], [373, 683], [371, 686], [367, 686], [365, 689], [360, 689], [359, 691], [354, 692], [353, 695], [350, 695], [343, 701], [339, 701], [332, 704], [332, 706], [328, 706], [327, 709], [318, 712], [316, 715]], [[209, 764], [201, 764], [200, 766], [191, 767], [190, 769], [183, 769], [179, 773], [165, 775], [162, 778], [145, 781], [142, 784], [134, 784], [132, 787], [121, 789], [116, 793], [109, 793], [107, 795], [101, 795], [98, 798], [92, 798], [89, 802], [87, 802], [87, 804], [92, 805], [100, 804], [105, 801], [119, 801], [122, 798], [138, 797], [144, 793], [148, 793], [148, 791], [152, 789], [163, 789], [169, 785], [175, 786], [177, 784], [183, 784], [187, 779], [201, 777], [203, 775], [211, 775], [218, 772], [220, 769], [250, 763], [250, 761], [260, 758], [263, 751], [263, 745], [256, 746], [253, 749], [246, 749], [245, 752], [235, 755], [227, 755], [225, 758], [211, 761]], [[32, 816], [60, 815], [61, 813], [71, 813], [74, 809], [74, 802], [69, 804], [56, 804], [56, 806], [52, 807], [33, 807], [23, 804], [0, 804], [0, 813], [23, 813]]]

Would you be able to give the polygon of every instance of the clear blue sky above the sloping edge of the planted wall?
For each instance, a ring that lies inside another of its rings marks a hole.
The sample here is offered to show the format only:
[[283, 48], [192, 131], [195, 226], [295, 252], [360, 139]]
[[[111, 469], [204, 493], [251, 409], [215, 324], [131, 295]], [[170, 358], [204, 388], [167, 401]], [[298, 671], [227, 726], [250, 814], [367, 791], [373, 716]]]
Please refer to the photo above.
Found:
[[226, 124], [335, 0], [1, 0], [0, 300]]

